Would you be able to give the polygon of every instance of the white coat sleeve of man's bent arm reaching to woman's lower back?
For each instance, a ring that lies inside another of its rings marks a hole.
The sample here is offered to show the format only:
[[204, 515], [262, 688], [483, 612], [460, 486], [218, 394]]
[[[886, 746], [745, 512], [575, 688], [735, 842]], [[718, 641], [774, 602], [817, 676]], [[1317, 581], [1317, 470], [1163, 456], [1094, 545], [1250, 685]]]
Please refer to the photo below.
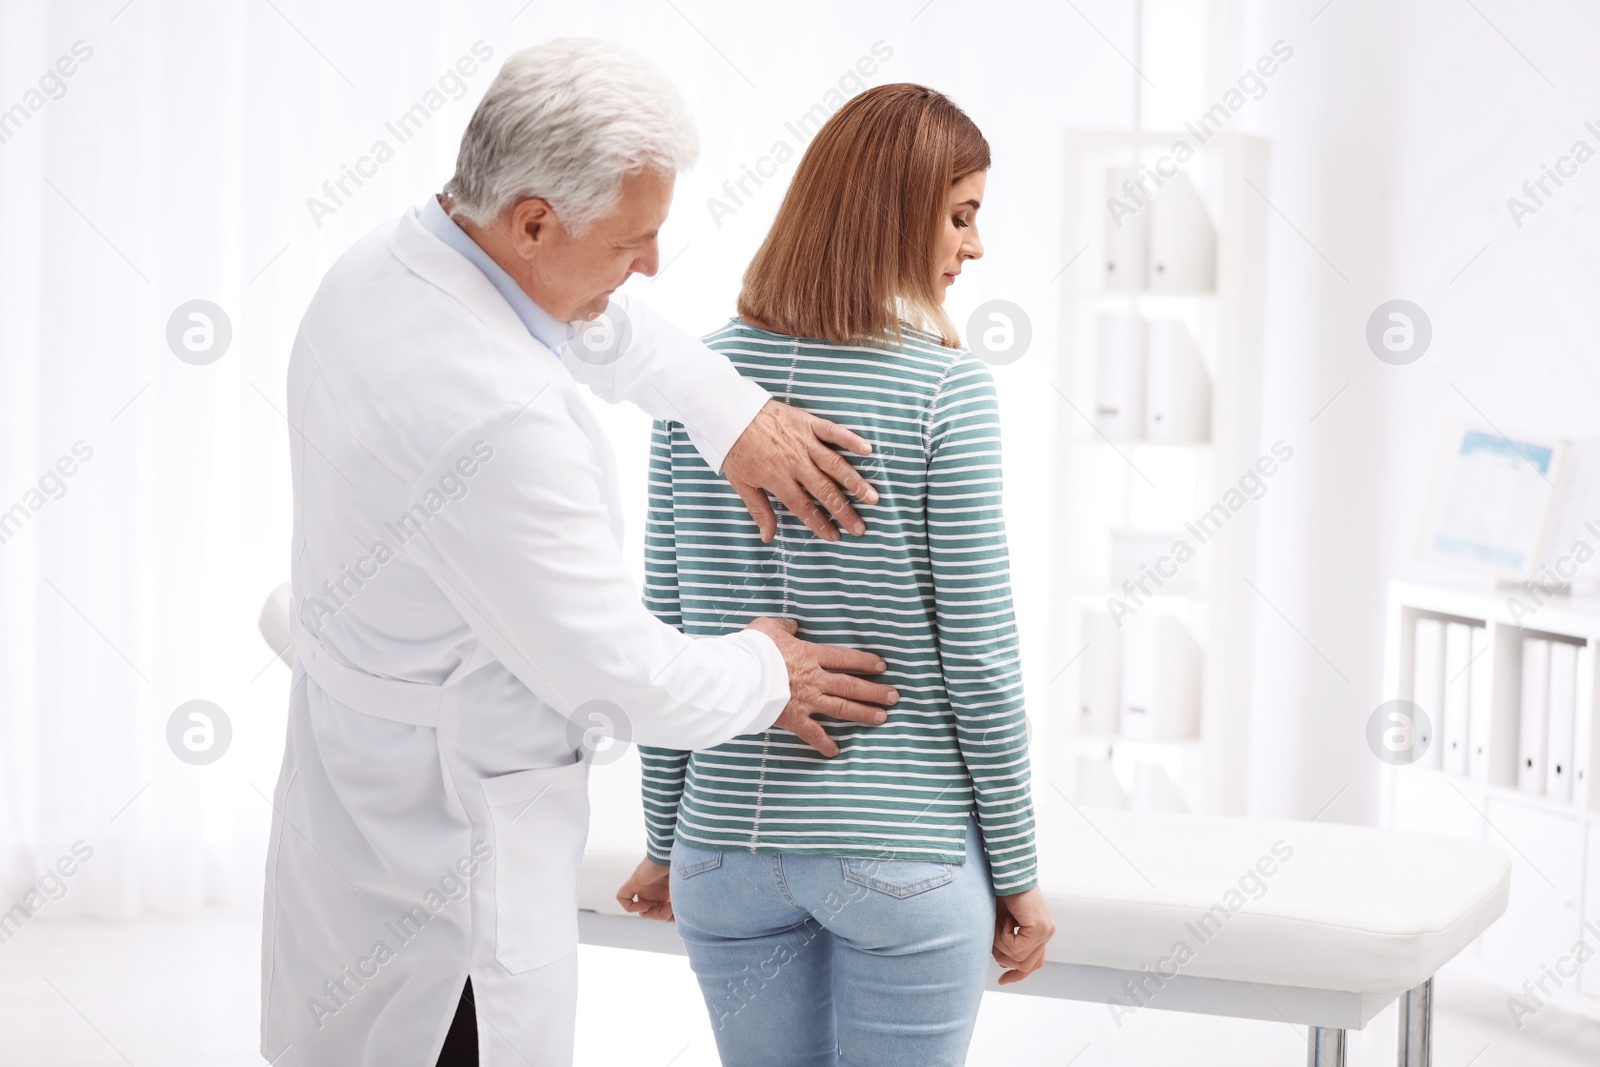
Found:
[[456, 434], [413, 485], [427, 517], [408, 550], [560, 713], [602, 710], [618, 737], [677, 749], [766, 729], [789, 701], [782, 654], [754, 630], [690, 638], [645, 609], [582, 418], [552, 384]]

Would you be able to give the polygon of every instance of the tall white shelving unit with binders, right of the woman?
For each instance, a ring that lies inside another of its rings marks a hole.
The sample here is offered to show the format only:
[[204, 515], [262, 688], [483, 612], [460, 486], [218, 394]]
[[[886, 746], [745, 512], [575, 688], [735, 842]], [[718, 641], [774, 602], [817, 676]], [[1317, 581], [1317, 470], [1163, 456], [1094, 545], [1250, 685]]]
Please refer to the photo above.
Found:
[[[1078, 803], [1243, 814], [1256, 593], [1242, 579], [1256, 501], [1291, 454], [1261, 440], [1269, 146], [1218, 133], [1174, 176], [1181, 138], [1066, 136], [1051, 763]], [[1130, 627], [1152, 617], [1179, 624], [1197, 662], [1170, 643], [1182, 662], [1136, 662], [1136, 685], [1112, 685], [1112, 645], [1136, 649]], [[1178, 667], [1198, 721], [1142, 726], [1141, 689]]]

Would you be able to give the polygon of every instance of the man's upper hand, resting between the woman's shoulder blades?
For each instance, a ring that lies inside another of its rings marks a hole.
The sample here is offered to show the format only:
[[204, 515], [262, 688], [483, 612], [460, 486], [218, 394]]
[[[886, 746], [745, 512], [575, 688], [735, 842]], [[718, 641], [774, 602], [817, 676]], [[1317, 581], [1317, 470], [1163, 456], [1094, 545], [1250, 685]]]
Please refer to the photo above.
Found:
[[832, 445], [858, 456], [872, 454], [866, 438], [845, 427], [768, 400], [728, 450], [722, 469], [762, 528], [763, 542], [778, 533], [778, 515], [766, 499], [768, 493], [824, 541], [838, 541], [840, 536], [829, 515], [856, 536], [867, 531], [845, 493], [877, 504], [878, 491]]

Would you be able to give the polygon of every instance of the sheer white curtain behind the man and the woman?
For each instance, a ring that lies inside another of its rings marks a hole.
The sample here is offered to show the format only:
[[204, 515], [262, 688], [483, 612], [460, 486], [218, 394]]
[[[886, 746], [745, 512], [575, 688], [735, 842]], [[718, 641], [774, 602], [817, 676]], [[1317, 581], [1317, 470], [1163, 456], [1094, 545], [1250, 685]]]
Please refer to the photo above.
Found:
[[[1035, 355], [1000, 386], [1018, 573], [1043, 573], [1056, 131], [1128, 122], [1130, 93], [1106, 86], [1133, 74], [1082, 19], [1128, 40], [1131, 8], [992, 6], [0, 0], [0, 913], [24, 897], [122, 918], [259, 902], [290, 675], [256, 616], [288, 574], [293, 331], [341, 251], [448, 179], [501, 61], [547, 37], [635, 48], [688, 99], [701, 162], [659, 278], [630, 288], [696, 333], [733, 312], [794, 160], [742, 186], [734, 214], [707, 205], [778, 144], [803, 147], [792, 120], [901, 80], [973, 114], [995, 146], [990, 256], [950, 310], [965, 325], [1006, 298], [1032, 314]], [[974, 54], [1008, 56], [1008, 77]], [[168, 344], [190, 301], [232, 330], [208, 365]], [[642, 501], [643, 419], [605, 421]], [[1040, 587], [1018, 582], [1042, 717], [1062, 664]], [[202, 766], [166, 741], [195, 699], [232, 725]], [[75, 841], [93, 857], [64, 894], [51, 880], [27, 896]]]

